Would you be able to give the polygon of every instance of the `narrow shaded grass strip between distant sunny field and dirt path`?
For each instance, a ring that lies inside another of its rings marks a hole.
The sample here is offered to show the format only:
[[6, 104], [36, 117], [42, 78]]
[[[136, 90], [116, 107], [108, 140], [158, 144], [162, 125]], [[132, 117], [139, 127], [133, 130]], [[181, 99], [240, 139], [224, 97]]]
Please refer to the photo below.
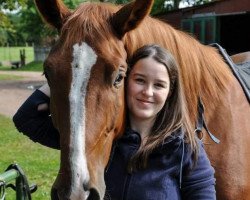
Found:
[[0, 71], [35, 71], [41, 72], [43, 71], [43, 62], [41, 61], [33, 61], [28, 63], [27, 65], [20, 67], [18, 69], [11, 69], [11, 67], [0, 66]]

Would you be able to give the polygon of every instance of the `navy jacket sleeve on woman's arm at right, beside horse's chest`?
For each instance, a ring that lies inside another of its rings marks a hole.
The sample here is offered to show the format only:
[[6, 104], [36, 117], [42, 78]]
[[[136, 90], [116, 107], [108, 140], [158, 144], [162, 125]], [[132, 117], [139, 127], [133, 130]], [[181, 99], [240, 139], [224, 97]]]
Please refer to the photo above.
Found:
[[210, 164], [203, 144], [198, 140], [199, 152], [194, 163], [190, 151], [185, 153], [182, 177], [182, 197], [186, 200], [215, 200], [214, 169]]

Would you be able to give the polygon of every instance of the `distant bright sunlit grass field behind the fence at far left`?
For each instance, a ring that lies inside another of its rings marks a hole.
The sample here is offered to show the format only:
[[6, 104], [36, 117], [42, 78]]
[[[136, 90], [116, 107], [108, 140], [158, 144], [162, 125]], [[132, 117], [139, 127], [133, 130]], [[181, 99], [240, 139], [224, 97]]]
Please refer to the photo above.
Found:
[[34, 60], [33, 47], [0, 47], [0, 61], [20, 60], [20, 50], [25, 49], [26, 63]]

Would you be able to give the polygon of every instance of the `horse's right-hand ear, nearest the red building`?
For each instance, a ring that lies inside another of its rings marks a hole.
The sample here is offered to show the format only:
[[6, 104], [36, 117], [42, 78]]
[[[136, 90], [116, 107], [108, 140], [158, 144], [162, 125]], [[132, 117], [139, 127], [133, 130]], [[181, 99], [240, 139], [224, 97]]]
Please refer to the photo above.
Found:
[[112, 17], [112, 25], [119, 38], [135, 29], [150, 13], [154, 0], [136, 0], [123, 6]]

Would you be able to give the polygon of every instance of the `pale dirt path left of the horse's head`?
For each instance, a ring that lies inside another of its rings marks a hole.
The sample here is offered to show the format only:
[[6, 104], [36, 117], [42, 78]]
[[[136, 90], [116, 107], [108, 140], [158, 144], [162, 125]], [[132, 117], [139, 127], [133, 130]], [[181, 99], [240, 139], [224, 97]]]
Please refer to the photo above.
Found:
[[0, 114], [12, 117], [27, 97], [45, 83], [42, 72], [0, 71], [0, 74], [22, 76], [21, 80], [0, 80]]

